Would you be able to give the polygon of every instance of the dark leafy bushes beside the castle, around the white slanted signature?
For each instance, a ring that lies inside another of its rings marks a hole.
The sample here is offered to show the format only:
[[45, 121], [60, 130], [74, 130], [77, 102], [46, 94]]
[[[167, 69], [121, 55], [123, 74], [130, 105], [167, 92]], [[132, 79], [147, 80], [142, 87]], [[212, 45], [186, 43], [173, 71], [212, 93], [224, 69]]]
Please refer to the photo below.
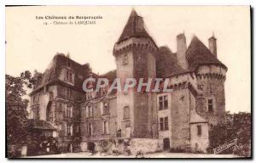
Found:
[[237, 138], [239, 149], [227, 149], [224, 153], [250, 156], [251, 137], [251, 114], [245, 112], [231, 114], [226, 112], [225, 124], [210, 127], [208, 152], [212, 153], [214, 148]]

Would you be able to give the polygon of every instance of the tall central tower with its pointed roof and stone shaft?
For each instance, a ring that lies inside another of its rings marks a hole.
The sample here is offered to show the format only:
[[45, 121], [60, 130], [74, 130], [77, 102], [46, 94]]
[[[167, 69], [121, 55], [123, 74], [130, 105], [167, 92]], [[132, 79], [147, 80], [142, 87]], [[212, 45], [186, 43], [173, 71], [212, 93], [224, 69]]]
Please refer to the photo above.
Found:
[[[157, 46], [144, 28], [143, 18], [135, 10], [113, 48], [117, 65], [117, 78], [122, 87], [127, 78], [148, 79], [156, 76], [155, 55]], [[146, 81], [146, 80], [145, 80]], [[122, 138], [152, 138], [152, 124], [157, 124], [153, 106], [154, 95], [138, 93], [136, 88], [117, 93], [118, 129]], [[154, 122], [153, 122], [154, 121]]]

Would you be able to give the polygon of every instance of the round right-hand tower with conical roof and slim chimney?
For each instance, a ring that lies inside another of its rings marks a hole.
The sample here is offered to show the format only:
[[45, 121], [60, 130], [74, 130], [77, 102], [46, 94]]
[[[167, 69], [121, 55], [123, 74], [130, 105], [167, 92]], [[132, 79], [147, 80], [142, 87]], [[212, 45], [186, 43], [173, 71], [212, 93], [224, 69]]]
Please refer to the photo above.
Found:
[[210, 125], [225, 121], [224, 82], [227, 67], [217, 59], [216, 38], [209, 38], [208, 49], [197, 37], [193, 37], [187, 50], [189, 69], [195, 70], [198, 96], [196, 111]]

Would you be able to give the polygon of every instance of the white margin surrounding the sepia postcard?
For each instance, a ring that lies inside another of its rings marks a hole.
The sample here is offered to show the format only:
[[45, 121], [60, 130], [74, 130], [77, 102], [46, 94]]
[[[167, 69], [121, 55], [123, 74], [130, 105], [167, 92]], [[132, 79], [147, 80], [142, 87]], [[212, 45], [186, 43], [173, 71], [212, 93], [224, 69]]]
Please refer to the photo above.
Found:
[[[4, 93], [4, 87], [5, 87], [5, 5], [251, 5], [252, 8], [255, 8], [256, 1], [253, 0], [174, 0], [174, 1], [154, 1], [154, 0], [130, 0], [130, 1], [121, 1], [121, 0], [90, 0], [85, 2], [78, 1], [78, 0], [66, 0], [66, 1], [58, 1], [58, 0], [44, 0], [44, 1], [32, 1], [32, 0], [3, 0], [0, 2], [0, 108], [2, 109], [0, 114], [0, 146], [1, 146], [1, 152], [0, 152], [0, 162], [7, 162], [9, 160], [5, 159], [5, 93]], [[255, 17], [253, 17], [253, 22], [255, 22]], [[254, 37], [254, 35], [252, 36]], [[255, 42], [253, 42], [253, 47], [255, 47]], [[253, 59], [253, 62], [255, 63], [255, 56]], [[254, 70], [253, 76], [255, 76], [256, 71]], [[253, 89], [254, 91], [254, 89]], [[255, 96], [253, 97], [253, 101], [255, 101]], [[253, 108], [252, 108], [253, 110]], [[255, 110], [253, 111], [253, 115], [255, 115]], [[254, 126], [254, 125], [253, 125]], [[253, 131], [255, 131], [255, 126], [253, 128]], [[255, 135], [255, 134], [253, 134]], [[254, 141], [255, 139], [253, 139]], [[255, 151], [253, 150], [253, 155], [255, 157]], [[12, 160], [14, 161], [14, 160]], [[20, 161], [20, 160], [15, 160]], [[22, 162], [28, 162], [29, 160], [22, 160]], [[34, 161], [34, 160], [32, 160]], [[44, 160], [38, 160], [38, 162], [43, 162]], [[56, 160], [48, 160], [49, 162], [55, 162]], [[60, 161], [60, 160], [58, 160]], [[71, 160], [67, 160], [71, 161]], [[74, 160], [73, 160], [74, 161]], [[81, 161], [95, 161], [95, 160], [81, 160]], [[102, 160], [96, 160], [96, 161], [102, 161]], [[108, 160], [113, 161], [113, 160]], [[123, 161], [123, 160], [115, 160], [115, 161]], [[127, 160], [126, 160], [127, 161]], [[130, 160], [134, 161], [134, 160]], [[139, 160], [140, 162], [146, 162], [148, 160]], [[154, 160], [156, 161], [156, 160]], [[162, 161], [162, 160], [157, 160]], [[170, 161], [170, 160], [166, 160]], [[173, 161], [173, 160], [172, 160]], [[177, 160], [175, 160], [177, 161]], [[189, 160], [191, 161], [191, 160]], [[197, 161], [197, 160], [192, 160]], [[206, 161], [206, 160], [204, 160]], [[217, 160], [218, 161], [218, 160]], [[234, 160], [233, 160], [234, 161]]]

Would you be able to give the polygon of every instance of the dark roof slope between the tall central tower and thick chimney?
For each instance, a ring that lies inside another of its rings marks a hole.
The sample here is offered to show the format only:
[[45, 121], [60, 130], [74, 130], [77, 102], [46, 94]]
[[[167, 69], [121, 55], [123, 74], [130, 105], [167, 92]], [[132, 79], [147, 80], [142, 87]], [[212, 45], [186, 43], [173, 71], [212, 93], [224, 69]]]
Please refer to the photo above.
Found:
[[177, 64], [177, 54], [168, 47], [160, 47], [156, 57], [156, 76], [170, 77], [182, 74], [188, 70]]

